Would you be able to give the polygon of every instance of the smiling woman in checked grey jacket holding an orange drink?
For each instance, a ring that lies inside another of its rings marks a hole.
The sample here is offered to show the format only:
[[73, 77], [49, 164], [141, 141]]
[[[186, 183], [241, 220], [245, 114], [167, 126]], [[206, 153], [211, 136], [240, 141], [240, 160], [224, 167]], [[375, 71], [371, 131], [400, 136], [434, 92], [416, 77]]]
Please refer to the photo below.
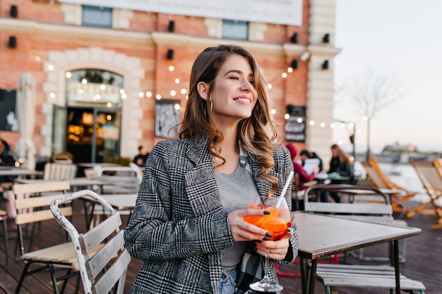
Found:
[[209, 47], [196, 58], [180, 139], [150, 152], [124, 232], [129, 252], [143, 261], [131, 293], [242, 293], [262, 275], [263, 263], [248, 273], [256, 275], [251, 281], [241, 279], [249, 276], [241, 264], [259, 262], [264, 247], [270, 259], [294, 261], [296, 226], [270, 241], [244, 221], [267, 214], [247, 207], [256, 195], [279, 196], [292, 171], [287, 149], [272, 143], [265, 85], [241, 47]]

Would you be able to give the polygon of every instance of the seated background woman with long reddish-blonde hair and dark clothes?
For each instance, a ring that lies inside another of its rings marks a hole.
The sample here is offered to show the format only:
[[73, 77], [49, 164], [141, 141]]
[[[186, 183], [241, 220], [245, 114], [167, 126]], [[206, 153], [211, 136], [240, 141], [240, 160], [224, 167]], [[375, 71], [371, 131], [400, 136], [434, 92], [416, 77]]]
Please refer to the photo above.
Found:
[[[330, 159], [330, 169], [328, 173], [338, 173], [340, 177], [349, 178], [349, 180], [342, 181], [340, 179], [331, 180], [331, 184], [350, 183], [352, 178], [352, 165], [350, 164], [350, 158], [344, 150], [336, 144], [331, 146], [332, 158]], [[340, 196], [337, 192], [330, 192], [330, 196], [336, 203], [340, 202]]]

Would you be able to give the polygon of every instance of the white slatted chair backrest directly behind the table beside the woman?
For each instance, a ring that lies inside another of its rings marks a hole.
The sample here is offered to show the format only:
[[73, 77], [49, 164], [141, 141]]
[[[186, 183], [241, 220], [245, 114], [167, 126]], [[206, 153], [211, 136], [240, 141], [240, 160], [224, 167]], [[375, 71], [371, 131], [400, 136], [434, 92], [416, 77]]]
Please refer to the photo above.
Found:
[[[309, 197], [304, 197], [304, 210], [312, 213], [333, 213], [335, 216], [346, 219], [359, 219], [389, 223], [393, 221], [393, 209], [390, 200], [381, 190], [366, 185], [313, 185], [306, 189], [306, 193], [314, 191], [336, 191], [350, 192], [354, 197], [364, 195], [364, 198], [371, 196], [383, 197], [384, 203], [356, 202], [356, 203], [335, 203], [335, 202], [309, 202]], [[355, 191], [355, 192], [352, 192]], [[357, 191], [357, 192], [356, 192]], [[361, 191], [366, 191], [366, 194]]]

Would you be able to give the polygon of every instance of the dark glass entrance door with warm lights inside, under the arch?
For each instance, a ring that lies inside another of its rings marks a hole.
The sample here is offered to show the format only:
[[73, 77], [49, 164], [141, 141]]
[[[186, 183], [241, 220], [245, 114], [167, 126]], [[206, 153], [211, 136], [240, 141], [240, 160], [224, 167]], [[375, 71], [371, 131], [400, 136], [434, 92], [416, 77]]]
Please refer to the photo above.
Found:
[[75, 162], [107, 163], [119, 157], [120, 109], [68, 107], [66, 151]]

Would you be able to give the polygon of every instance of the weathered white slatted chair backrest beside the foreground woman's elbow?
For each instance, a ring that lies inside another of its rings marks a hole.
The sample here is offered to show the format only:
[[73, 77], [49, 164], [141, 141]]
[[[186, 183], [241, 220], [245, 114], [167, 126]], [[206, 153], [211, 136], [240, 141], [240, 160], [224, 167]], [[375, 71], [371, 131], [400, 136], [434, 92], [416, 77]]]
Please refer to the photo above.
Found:
[[[92, 198], [93, 201], [100, 203], [107, 212], [106, 219], [85, 233], [78, 233], [76, 227], [66, 218], [63, 210], [59, 207], [78, 197]], [[123, 293], [127, 267], [131, 257], [124, 247], [124, 231], [120, 230], [119, 212], [90, 190], [80, 190], [53, 200], [51, 211], [56, 221], [71, 237], [80, 268], [84, 293], [109, 293], [117, 284], [116, 294]], [[96, 250], [97, 247], [100, 249]]]

